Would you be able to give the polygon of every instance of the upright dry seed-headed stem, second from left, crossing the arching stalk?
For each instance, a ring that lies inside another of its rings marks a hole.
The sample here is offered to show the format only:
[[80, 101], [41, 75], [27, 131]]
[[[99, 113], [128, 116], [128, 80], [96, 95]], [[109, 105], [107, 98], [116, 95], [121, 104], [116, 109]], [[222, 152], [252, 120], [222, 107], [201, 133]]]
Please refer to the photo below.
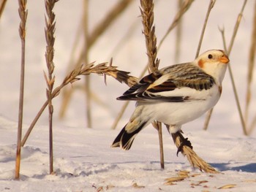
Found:
[[59, 0], [45, 0], [45, 9], [47, 17], [45, 16], [45, 39], [46, 39], [46, 52], [45, 61], [47, 64], [48, 74], [45, 73], [45, 81], [47, 84], [46, 96], [48, 99], [48, 120], [49, 120], [49, 160], [50, 160], [50, 174], [53, 174], [53, 104], [52, 104], [52, 91], [55, 82], [53, 76], [54, 64], [54, 32], [55, 32], [55, 14], [53, 7]]

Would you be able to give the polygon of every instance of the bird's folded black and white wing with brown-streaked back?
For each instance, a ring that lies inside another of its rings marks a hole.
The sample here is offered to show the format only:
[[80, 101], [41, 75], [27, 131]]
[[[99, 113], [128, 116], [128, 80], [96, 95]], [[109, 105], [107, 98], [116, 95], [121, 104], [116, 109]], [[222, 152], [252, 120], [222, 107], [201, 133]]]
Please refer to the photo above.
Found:
[[177, 64], [146, 75], [117, 99], [183, 102], [194, 99], [191, 95], [195, 91], [206, 91], [214, 84], [214, 77], [194, 64]]

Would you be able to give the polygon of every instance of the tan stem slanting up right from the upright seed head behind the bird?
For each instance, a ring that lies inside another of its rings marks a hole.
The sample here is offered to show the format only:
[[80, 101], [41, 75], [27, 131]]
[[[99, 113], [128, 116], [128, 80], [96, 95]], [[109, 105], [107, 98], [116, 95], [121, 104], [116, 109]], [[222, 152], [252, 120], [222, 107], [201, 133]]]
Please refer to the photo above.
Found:
[[192, 4], [194, 0], [185, 0], [182, 5], [181, 5], [181, 9], [179, 9], [179, 11], [176, 13], [174, 19], [173, 19], [173, 23], [170, 25], [170, 27], [167, 29], [164, 37], [162, 37], [162, 39], [159, 42], [158, 45], [158, 50], [160, 49], [160, 47], [162, 46], [162, 43], [165, 41], [166, 37], [168, 36], [168, 34], [170, 34], [170, 31], [173, 30], [173, 28], [175, 28], [178, 25], [179, 20], [182, 18], [182, 16], [184, 15], [185, 12], [187, 12], [187, 10], [189, 9], [190, 5]]

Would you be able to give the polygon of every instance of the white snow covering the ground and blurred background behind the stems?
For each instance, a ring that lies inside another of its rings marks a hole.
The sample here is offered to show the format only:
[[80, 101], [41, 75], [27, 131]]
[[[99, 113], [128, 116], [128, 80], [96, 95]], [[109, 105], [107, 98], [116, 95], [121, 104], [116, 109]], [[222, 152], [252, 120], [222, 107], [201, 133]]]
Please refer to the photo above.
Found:
[[[117, 1], [90, 1], [90, 29], [99, 23]], [[229, 42], [243, 1], [217, 1], [209, 18], [202, 52], [212, 48], [222, 49], [218, 27], [225, 27]], [[233, 9], [228, 9], [232, 4]], [[254, 1], [248, 1], [241, 20], [233, 52], [230, 55], [236, 84], [244, 109], [246, 64], [252, 31]], [[61, 0], [56, 4], [56, 85], [67, 71], [72, 42], [80, 24], [83, 1]], [[183, 41], [180, 62], [195, 57], [203, 18], [208, 1], [195, 1], [184, 17]], [[45, 37], [43, 1], [28, 1], [29, 16], [26, 40], [26, 90], [24, 102], [23, 134], [45, 101]], [[104, 62], [113, 57], [113, 65], [139, 76], [146, 64], [146, 50], [141, 34], [138, 1], [134, 1], [124, 14], [113, 23], [91, 50], [90, 61]], [[200, 11], [198, 11], [198, 7]], [[205, 7], [205, 8], [202, 8]], [[97, 11], [96, 11], [97, 9]], [[245, 137], [236, 109], [229, 74], [223, 82], [223, 93], [211, 119], [208, 131], [203, 131], [204, 117], [184, 125], [184, 136], [189, 137], [195, 152], [220, 174], [202, 173], [192, 169], [187, 158], [176, 156], [176, 146], [167, 130], [163, 130], [165, 169], [159, 165], [157, 131], [151, 126], [136, 137], [132, 149], [123, 151], [110, 145], [134, 109], [129, 104], [127, 112], [116, 130], [110, 129], [121, 101], [116, 101], [126, 89], [108, 77], [108, 86], [99, 76], [92, 76], [92, 91], [105, 102], [92, 104], [93, 128], [85, 128], [84, 93], [75, 91], [63, 120], [58, 118], [61, 96], [54, 99], [54, 170], [49, 174], [48, 114], [47, 110], [31, 132], [22, 148], [20, 180], [14, 180], [17, 139], [18, 90], [20, 75], [20, 39], [18, 37], [18, 3], [8, 1], [0, 20], [0, 191], [255, 191], [256, 190], [256, 134]], [[155, 24], [158, 39], [175, 15], [175, 1], [157, 1]], [[166, 18], [163, 19], [163, 18]], [[117, 52], [113, 47], [124, 37], [127, 28], [136, 23], [129, 41]], [[193, 38], [192, 38], [193, 37]], [[160, 66], [173, 64], [174, 33], [159, 50]], [[83, 40], [81, 40], [83, 41]], [[80, 42], [81, 43], [81, 42]], [[239, 77], [239, 78], [238, 78]], [[82, 80], [81, 80], [82, 82]], [[78, 85], [83, 85], [78, 82]], [[255, 80], [254, 80], [255, 82]], [[252, 90], [255, 96], [255, 90]], [[255, 106], [255, 100], [252, 101]], [[249, 120], [256, 109], [251, 108]], [[165, 185], [167, 178], [178, 177], [186, 171], [188, 177]], [[233, 188], [221, 189], [225, 185]]]

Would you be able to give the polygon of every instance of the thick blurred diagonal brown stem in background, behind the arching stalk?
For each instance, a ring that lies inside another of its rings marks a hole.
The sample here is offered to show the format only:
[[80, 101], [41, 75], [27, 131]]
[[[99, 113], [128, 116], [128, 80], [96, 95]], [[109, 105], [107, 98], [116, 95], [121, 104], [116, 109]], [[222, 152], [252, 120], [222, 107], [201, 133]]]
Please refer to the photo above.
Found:
[[[99, 37], [111, 26], [111, 23], [118, 18], [118, 16], [121, 14], [121, 12], [124, 12], [124, 10], [129, 6], [129, 4], [132, 3], [132, 0], [121, 0], [118, 1], [118, 3], [113, 7], [113, 9], [110, 9], [110, 11], [105, 15], [105, 17], [99, 22], [99, 24], [91, 31], [88, 37], [88, 42], [86, 47], [83, 47], [82, 50], [80, 50], [80, 55], [78, 56], [78, 60], [75, 62], [75, 67], [82, 64], [84, 61], [84, 58], [86, 57], [86, 51], [89, 50], [91, 46], [94, 45], [94, 43], [99, 39]], [[69, 66], [73, 64], [73, 62], [69, 63]], [[73, 93], [73, 89], [68, 89], [66, 91], [66, 94], [64, 95], [64, 101], [62, 101], [61, 104], [61, 117], [64, 116], [65, 111], [67, 110], [67, 104], [69, 103], [69, 99], [71, 99]]]

